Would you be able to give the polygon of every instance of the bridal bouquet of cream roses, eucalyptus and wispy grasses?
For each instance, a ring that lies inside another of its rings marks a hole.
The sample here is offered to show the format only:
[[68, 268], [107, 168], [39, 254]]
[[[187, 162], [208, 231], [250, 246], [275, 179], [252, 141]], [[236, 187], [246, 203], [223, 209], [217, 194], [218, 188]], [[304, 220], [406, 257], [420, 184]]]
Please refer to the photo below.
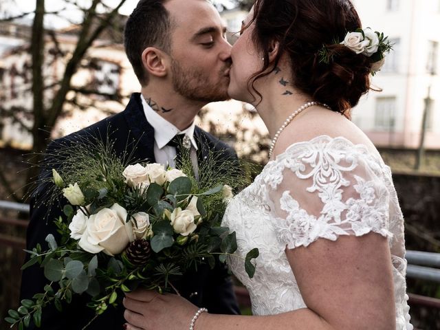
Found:
[[[104, 144], [79, 151], [52, 163], [57, 170], [52, 169], [47, 199], [63, 195], [68, 201], [64, 217], [55, 220], [60, 238], [49, 234], [48, 250], [41, 245], [27, 250], [30, 260], [22, 267], [39, 263], [50, 283], [9, 310], [5, 320], [11, 327], [28, 327], [31, 318], [40, 327], [43, 307], [61, 310], [74, 294], [90, 296], [95, 318], [139, 286], [178, 294], [173, 283], [184, 272], [201, 263], [214, 267], [216, 259], [224, 262], [236, 250], [235, 232], [220, 225], [240, 181], [228, 162], [218, 170], [201, 165], [196, 180], [185, 163], [181, 170], [127, 165]], [[251, 250], [243, 261], [251, 278], [258, 255], [258, 249]]]

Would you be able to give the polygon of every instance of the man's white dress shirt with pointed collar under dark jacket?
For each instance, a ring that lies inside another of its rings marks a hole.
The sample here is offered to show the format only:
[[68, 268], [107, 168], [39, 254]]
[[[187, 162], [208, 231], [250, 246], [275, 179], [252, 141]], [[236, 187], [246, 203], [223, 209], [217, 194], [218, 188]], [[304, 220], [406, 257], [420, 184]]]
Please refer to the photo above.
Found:
[[185, 129], [180, 131], [176, 126], [164, 119], [159, 113], [154, 111], [147, 103], [141, 94], [142, 107], [144, 108], [144, 113], [146, 120], [153, 126], [154, 129], [154, 157], [156, 162], [159, 164], [168, 165], [175, 167], [175, 157], [177, 155], [176, 148], [173, 146], [168, 146], [168, 142], [175, 137], [177, 134], [185, 134], [190, 138], [191, 149], [190, 157], [192, 166], [195, 170], [195, 175], [198, 177], [199, 166], [197, 164], [197, 144], [194, 138], [195, 122]]

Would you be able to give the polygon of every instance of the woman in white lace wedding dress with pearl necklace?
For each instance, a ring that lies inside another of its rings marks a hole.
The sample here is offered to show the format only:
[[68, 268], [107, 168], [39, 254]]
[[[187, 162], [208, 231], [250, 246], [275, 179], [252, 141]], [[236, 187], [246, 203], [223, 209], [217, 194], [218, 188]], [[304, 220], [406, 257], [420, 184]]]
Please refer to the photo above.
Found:
[[[350, 120], [390, 45], [349, 0], [256, 0], [232, 48], [229, 94], [254, 104], [270, 161], [228, 206], [230, 259], [254, 316], [173, 294], [126, 294], [126, 329], [412, 329], [404, 224], [386, 166]], [[358, 109], [358, 111], [362, 111]]]

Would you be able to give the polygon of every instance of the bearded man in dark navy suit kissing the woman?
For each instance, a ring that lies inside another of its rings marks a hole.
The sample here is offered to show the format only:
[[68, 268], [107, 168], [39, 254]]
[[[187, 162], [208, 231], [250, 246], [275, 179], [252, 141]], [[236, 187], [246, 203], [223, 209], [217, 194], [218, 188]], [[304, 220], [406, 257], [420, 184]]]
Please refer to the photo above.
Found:
[[[210, 151], [223, 150], [225, 157], [236, 157], [228, 146], [194, 124], [201, 107], [228, 98], [231, 46], [212, 5], [205, 0], [140, 0], [126, 22], [124, 36], [126, 55], [142, 85], [141, 93], [133, 94], [121, 113], [52, 142], [48, 152], [54, 154], [61, 145], [84, 141], [91, 135], [108, 136], [120, 155], [128, 146], [126, 151], [133, 153], [134, 160], [173, 166], [177, 150], [170, 141], [180, 135], [196, 175], [199, 164], [210, 160]], [[49, 176], [49, 170], [43, 170], [42, 175]], [[49, 233], [59, 236], [52, 221], [61, 215], [61, 209], [56, 205], [47, 210], [39, 199], [39, 192], [44, 195], [47, 189], [50, 187], [39, 186], [31, 203], [28, 250], [37, 243], [47, 246]], [[214, 270], [201, 267], [183, 277], [179, 292], [195, 305], [211, 313], [239, 313], [223, 265]], [[34, 265], [24, 270], [21, 298], [43, 292], [45, 284], [43, 268]], [[41, 329], [83, 329], [94, 316], [94, 311], [85, 307], [88, 298], [76, 297], [62, 312], [47, 307]], [[123, 324], [123, 309], [109, 307], [87, 329], [120, 330]], [[29, 329], [36, 328], [31, 325]]]

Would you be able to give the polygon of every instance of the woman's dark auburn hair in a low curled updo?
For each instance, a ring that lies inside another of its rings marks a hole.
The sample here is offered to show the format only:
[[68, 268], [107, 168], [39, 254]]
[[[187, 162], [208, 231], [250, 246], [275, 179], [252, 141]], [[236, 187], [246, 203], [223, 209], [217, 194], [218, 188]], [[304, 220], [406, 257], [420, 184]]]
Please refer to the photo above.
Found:
[[[371, 89], [369, 58], [340, 45], [347, 32], [362, 26], [351, 1], [256, 0], [252, 22], [252, 39], [264, 56], [263, 69], [251, 78], [252, 88], [256, 79], [270, 74], [268, 54], [278, 41], [273, 67], [287, 54], [294, 87], [333, 111], [350, 117], [350, 109]], [[331, 58], [328, 63], [322, 61], [323, 47]]]

